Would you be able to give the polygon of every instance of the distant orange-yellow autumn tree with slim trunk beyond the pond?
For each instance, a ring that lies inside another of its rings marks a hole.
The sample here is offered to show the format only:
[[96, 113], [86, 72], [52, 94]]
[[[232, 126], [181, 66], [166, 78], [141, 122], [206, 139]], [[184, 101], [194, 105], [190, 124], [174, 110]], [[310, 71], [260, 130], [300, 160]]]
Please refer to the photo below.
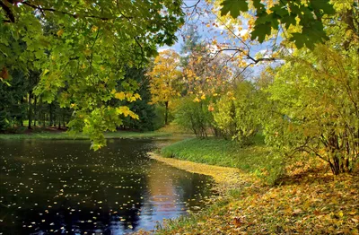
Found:
[[180, 55], [174, 50], [164, 50], [155, 57], [151, 77], [150, 91], [152, 103], [162, 103], [165, 107], [165, 125], [168, 124], [169, 105], [179, 96]]

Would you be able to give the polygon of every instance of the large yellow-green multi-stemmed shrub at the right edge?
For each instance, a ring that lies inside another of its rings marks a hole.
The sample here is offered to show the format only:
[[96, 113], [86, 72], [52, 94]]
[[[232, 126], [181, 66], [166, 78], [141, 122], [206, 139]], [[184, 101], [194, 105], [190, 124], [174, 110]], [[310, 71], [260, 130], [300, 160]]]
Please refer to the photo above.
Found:
[[355, 1], [333, 2], [337, 15], [323, 21], [330, 39], [294, 50], [277, 68], [264, 127], [281, 154], [306, 152], [339, 174], [354, 170], [359, 156], [359, 28]]

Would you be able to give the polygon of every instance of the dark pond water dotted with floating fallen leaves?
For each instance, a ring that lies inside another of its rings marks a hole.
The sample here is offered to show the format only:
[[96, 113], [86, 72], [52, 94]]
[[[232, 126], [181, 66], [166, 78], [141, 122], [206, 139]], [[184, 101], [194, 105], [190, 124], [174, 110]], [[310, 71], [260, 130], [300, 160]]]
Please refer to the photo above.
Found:
[[0, 233], [125, 234], [204, 206], [212, 180], [150, 160], [159, 140], [0, 142]]

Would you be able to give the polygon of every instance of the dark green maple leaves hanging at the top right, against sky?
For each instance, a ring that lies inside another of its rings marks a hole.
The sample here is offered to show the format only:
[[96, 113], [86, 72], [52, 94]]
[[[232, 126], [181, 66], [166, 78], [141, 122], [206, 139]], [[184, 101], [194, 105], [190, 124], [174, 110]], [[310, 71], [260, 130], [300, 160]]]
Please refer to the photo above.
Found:
[[[249, 11], [249, 2], [224, 0], [221, 4], [223, 6], [221, 13], [222, 15], [230, 13], [233, 18], [237, 18], [241, 12]], [[305, 45], [313, 49], [316, 43], [328, 39], [321, 19], [324, 15], [336, 13], [329, 0], [311, 0], [305, 3], [301, 0], [281, 0], [270, 7], [260, 0], [253, 0], [252, 4], [257, 19], [251, 32], [251, 39], [263, 42], [272, 30], [279, 29], [279, 24], [283, 24], [286, 29], [291, 25], [299, 26], [302, 31], [293, 33], [290, 38], [297, 48], [303, 48]]]

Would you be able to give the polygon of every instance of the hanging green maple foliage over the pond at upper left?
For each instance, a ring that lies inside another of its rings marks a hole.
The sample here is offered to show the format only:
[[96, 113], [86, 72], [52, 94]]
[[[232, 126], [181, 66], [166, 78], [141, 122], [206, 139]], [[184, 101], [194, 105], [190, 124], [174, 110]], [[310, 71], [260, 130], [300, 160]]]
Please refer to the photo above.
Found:
[[[72, 131], [88, 134], [92, 147], [100, 148], [105, 144], [101, 133], [115, 130], [123, 117], [136, 117], [129, 109], [108, 105], [116, 99], [113, 91], [124, 68], [144, 65], [157, 46], [173, 43], [183, 22], [180, 4], [6, 1], [0, 12], [0, 65], [9, 71], [39, 70], [35, 94], [73, 109]], [[129, 93], [135, 90], [131, 83], [121, 85]]]

